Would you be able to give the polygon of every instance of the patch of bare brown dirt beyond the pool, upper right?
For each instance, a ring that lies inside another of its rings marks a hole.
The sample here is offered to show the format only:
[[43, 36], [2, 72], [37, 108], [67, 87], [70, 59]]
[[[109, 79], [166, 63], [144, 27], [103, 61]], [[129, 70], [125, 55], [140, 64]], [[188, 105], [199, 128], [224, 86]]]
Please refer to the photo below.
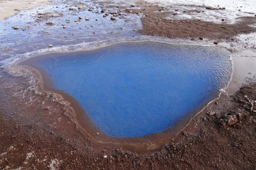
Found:
[[[138, 4], [138, 6], [140, 5]], [[162, 10], [162, 12], [158, 10]], [[222, 24], [194, 19], [166, 19], [175, 12], [165, 11], [165, 8], [160, 6], [142, 5], [141, 10], [132, 11], [146, 15], [141, 18], [143, 29], [138, 30], [137, 33], [151, 36], [194, 39], [201, 37], [213, 40], [230, 40], [238, 34], [247, 34], [256, 31], [255, 27], [249, 26], [256, 23], [256, 17], [241, 17], [237, 18], [235, 24]]]

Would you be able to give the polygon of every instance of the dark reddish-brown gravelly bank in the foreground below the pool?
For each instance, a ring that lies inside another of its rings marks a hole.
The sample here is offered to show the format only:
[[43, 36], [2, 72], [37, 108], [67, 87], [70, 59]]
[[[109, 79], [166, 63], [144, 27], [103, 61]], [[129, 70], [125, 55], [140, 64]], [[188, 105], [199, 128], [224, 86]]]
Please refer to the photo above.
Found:
[[[252, 169], [255, 161], [256, 84], [248, 82], [214, 110], [200, 116], [195, 134], [183, 131], [178, 143], [165, 144], [159, 152], [137, 154], [98, 150], [70, 141], [49, 126], [28, 121], [21, 115], [0, 112], [0, 167], [81, 169]], [[252, 111], [251, 111], [252, 110]], [[221, 120], [243, 113], [235, 124], [223, 128]], [[221, 153], [221, 154], [220, 154]], [[239, 153], [239, 154], [237, 154]], [[16, 157], [20, 159], [17, 160]], [[8, 169], [8, 168], [7, 168]]]

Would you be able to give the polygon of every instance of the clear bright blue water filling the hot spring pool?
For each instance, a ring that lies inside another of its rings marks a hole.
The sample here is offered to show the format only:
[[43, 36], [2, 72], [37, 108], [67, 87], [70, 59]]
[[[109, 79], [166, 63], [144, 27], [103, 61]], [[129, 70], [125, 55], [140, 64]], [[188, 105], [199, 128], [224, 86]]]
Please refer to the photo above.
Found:
[[122, 42], [37, 61], [54, 88], [74, 97], [105, 133], [142, 137], [177, 120], [225, 87], [231, 74], [221, 48]]

